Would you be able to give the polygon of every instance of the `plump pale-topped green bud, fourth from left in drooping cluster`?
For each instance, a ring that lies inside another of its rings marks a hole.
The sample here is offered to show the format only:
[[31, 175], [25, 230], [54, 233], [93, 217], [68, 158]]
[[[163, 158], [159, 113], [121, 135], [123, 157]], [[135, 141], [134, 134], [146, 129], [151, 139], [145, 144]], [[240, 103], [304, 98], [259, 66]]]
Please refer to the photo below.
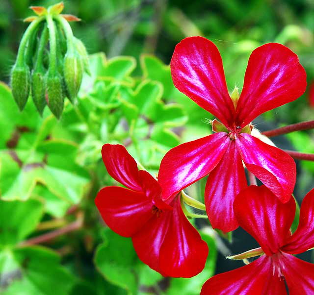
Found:
[[71, 102], [78, 95], [78, 90], [83, 78], [83, 61], [76, 53], [67, 53], [64, 57], [63, 76], [67, 96]]

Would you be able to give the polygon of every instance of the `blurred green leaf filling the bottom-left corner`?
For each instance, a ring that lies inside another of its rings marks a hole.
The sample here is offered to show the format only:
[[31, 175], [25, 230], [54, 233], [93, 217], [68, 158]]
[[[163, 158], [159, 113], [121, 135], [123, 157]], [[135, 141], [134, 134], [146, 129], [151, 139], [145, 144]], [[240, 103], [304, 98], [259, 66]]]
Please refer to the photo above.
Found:
[[40, 246], [0, 252], [2, 295], [69, 294], [72, 275], [60, 264], [59, 256]]

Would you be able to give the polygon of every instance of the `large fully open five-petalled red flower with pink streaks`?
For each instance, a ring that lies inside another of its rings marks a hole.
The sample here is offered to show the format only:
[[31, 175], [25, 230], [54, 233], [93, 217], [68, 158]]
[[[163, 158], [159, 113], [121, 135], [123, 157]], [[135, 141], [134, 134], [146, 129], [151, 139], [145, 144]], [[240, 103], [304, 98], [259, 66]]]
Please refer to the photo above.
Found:
[[215, 134], [171, 149], [161, 161], [162, 198], [177, 194], [209, 174], [205, 204], [209, 221], [224, 232], [237, 228], [235, 196], [247, 186], [242, 161], [282, 202], [295, 185], [295, 163], [279, 148], [250, 135], [250, 122], [263, 112], [300, 97], [306, 73], [299, 59], [281, 44], [255, 49], [248, 61], [240, 97], [229, 96], [216, 46], [202, 37], [181, 41], [171, 59], [175, 87], [219, 120]]

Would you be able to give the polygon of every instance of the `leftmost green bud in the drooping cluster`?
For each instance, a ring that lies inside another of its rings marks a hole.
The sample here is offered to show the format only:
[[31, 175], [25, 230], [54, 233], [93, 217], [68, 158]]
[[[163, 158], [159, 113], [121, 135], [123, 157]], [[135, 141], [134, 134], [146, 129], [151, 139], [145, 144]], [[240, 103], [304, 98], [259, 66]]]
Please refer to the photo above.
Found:
[[13, 66], [11, 71], [11, 88], [12, 95], [20, 111], [25, 107], [27, 98], [29, 96], [30, 88], [30, 72], [26, 64], [24, 66]]

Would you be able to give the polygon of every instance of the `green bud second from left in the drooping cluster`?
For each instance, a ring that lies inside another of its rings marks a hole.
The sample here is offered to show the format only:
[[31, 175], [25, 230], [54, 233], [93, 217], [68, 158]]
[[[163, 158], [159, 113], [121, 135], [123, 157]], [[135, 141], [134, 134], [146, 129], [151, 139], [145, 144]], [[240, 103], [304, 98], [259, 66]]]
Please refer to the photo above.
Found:
[[45, 76], [42, 71], [36, 71], [32, 74], [31, 79], [31, 96], [33, 98], [34, 104], [40, 115], [43, 114], [43, 110], [46, 106], [45, 92]]

